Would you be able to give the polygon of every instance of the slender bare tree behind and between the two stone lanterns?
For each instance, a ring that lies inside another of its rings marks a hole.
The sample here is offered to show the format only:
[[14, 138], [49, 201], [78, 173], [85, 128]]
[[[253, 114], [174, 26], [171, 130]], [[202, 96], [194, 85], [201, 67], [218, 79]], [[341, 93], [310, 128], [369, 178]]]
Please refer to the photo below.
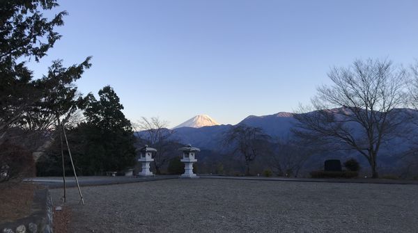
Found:
[[[146, 136], [143, 139], [147, 141], [148, 145], [157, 149], [154, 156], [155, 173], [157, 175], [161, 174], [162, 166], [168, 163], [170, 159], [168, 152], [170, 147], [169, 136], [171, 136], [174, 131], [167, 129], [168, 124], [167, 121], [160, 120], [160, 118], [157, 117], [141, 117], [141, 120], [139, 120], [137, 124], [134, 124], [136, 129], [145, 132]], [[137, 132], [137, 134], [138, 133], [139, 132]], [[138, 136], [141, 135], [138, 134]]]

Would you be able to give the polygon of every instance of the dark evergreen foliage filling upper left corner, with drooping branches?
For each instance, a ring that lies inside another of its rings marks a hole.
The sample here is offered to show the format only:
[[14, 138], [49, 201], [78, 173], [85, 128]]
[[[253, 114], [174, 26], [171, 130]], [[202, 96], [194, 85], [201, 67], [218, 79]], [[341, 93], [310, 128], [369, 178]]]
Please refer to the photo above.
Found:
[[[56, 6], [56, 0], [0, 1], [0, 145], [13, 142], [21, 156], [47, 145], [54, 125], [82, 104], [74, 81], [91, 66], [90, 57], [68, 68], [54, 61], [46, 76], [34, 79], [26, 63], [39, 62], [61, 38], [56, 27], [67, 13], [43, 15]], [[0, 158], [0, 167], [9, 163]]]

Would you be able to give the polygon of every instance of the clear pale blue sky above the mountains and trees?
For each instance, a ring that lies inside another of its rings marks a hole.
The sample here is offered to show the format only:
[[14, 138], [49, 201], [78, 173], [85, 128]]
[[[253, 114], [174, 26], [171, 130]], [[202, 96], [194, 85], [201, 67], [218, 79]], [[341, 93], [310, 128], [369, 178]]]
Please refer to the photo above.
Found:
[[59, 1], [65, 25], [52, 60], [93, 56], [77, 81], [110, 85], [128, 119], [174, 127], [206, 113], [222, 124], [309, 104], [333, 65], [418, 58], [418, 1]]

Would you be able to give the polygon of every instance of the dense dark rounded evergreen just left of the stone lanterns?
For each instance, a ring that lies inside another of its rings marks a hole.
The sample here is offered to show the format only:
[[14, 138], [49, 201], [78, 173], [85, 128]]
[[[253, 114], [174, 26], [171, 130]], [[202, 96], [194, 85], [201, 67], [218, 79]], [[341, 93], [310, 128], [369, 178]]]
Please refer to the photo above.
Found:
[[74, 129], [80, 148], [75, 163], [83, 175], [120, 171], [134, 165], [135, 147], [132, 125], [122, 113], [119, 97], [110, 86], [99, 91], [100, 99], [87, 96], [86, 122]]

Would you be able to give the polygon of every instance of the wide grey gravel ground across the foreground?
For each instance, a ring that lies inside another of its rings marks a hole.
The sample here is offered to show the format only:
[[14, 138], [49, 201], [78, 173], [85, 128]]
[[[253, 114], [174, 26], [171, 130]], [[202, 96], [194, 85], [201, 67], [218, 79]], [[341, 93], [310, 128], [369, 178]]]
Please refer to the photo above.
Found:
[[418, 185], [170, 179], [82, 192], [85, 206], [67, 191], [69, 232], [418, 231]]

